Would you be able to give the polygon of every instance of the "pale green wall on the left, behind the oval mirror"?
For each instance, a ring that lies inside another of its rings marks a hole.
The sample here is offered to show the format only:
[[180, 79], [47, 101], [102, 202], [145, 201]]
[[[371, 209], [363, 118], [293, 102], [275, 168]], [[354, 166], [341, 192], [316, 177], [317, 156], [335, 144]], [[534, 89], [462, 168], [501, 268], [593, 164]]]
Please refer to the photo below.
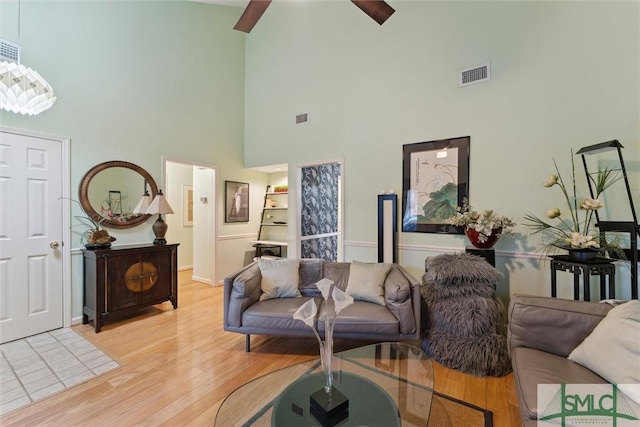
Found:
[[[0, 2], [0, 37], [17, 41], [17, 8]], [[0, 125], [71, 138], [74, 198], [84, 173], [107, 160], [136, 163], [162, 187], [162, 156], [216, 165], [220, 198], [225, 179], [264, 188], [267, 176], [242, 165], [245, 35], [233, 30], [241, 12], [178, 1], [23, 1], [22, 63], [53, 86], [58, 100], [35, 117], [3, 111]], [[221, 200], [218, 207], [221, 214]], [[257, 232], [259, 213], [236, 227], [219, 216], [218, 234], [227, 240], [218, 251], [227, 242], [250, 249], [246, 235]], [[116, 244], [151, 242], [154, 220], [110, 233]], [[83, 229], [72, 230], [78, 248]], [[241, 265], [225, 262], [218, 280]], [[81, 274], [74, 250], [74, 319], [82, 314]]]

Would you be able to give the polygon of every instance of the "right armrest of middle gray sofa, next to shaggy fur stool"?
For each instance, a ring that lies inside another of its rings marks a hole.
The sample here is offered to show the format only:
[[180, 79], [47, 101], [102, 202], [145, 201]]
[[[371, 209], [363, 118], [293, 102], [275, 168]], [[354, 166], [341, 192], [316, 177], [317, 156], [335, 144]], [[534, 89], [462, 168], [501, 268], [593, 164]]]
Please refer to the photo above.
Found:
[[400, 333], [419, 336], [420, 283], [398, 264], [391, 267], [384, 282], [384, 299], [400, 322]]

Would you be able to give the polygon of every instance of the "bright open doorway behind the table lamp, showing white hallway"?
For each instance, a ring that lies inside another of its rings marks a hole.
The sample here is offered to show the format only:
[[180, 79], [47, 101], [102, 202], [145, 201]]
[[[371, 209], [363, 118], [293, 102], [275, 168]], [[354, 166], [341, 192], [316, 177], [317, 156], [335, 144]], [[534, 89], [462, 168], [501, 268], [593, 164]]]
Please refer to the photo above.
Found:
[[180, 243], [178, 269], [213, 285], [217, 269], [216, 168], [188, 160], [164, 160], [164, 188], [174, 215], [167, 215], [167, 240]]

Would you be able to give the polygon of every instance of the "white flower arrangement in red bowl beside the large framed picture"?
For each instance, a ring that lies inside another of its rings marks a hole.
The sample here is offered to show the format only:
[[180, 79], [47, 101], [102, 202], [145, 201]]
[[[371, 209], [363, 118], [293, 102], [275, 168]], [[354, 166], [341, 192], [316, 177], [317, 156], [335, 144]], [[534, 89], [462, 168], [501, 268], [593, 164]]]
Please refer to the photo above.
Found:
[[469, 205], [467, 198], [462, 199], [462, 207], [458, 207], [458, 213], [446, 222], [464, 227], [471, 244], [481, 249], [495, 245], [502, 234], [511, 234], [516, 225], [512, 218], [498, 215], [492, 209], [476, 211]]

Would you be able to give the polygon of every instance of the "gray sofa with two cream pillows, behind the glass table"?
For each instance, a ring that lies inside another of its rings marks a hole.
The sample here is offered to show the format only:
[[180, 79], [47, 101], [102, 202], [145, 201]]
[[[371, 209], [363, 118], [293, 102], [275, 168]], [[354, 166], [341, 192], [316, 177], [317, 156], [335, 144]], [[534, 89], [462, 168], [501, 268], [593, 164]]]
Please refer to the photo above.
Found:
[[[311, 298], [322, 313], [323, 299], [315, 286], [320, 279], [333, 280], [345, 290], [349, 280], [348, 262], [300, 260], [302, 297], [260, 301], [261, 273], [254, 262], [224, 279], [225, 331], [246, 335], [246, 351], [251, 349], [251, 334], [313, 337], [313, 331], [293, 313]], [[404, 268], [393, 264], [384, 282], [385, 305], [355, 301], [336, 318], [334, 337], [362, 340], [400, 341], [420, 338], [420, 283]], [[316, 319], [321, 336], [324, 323]]]

